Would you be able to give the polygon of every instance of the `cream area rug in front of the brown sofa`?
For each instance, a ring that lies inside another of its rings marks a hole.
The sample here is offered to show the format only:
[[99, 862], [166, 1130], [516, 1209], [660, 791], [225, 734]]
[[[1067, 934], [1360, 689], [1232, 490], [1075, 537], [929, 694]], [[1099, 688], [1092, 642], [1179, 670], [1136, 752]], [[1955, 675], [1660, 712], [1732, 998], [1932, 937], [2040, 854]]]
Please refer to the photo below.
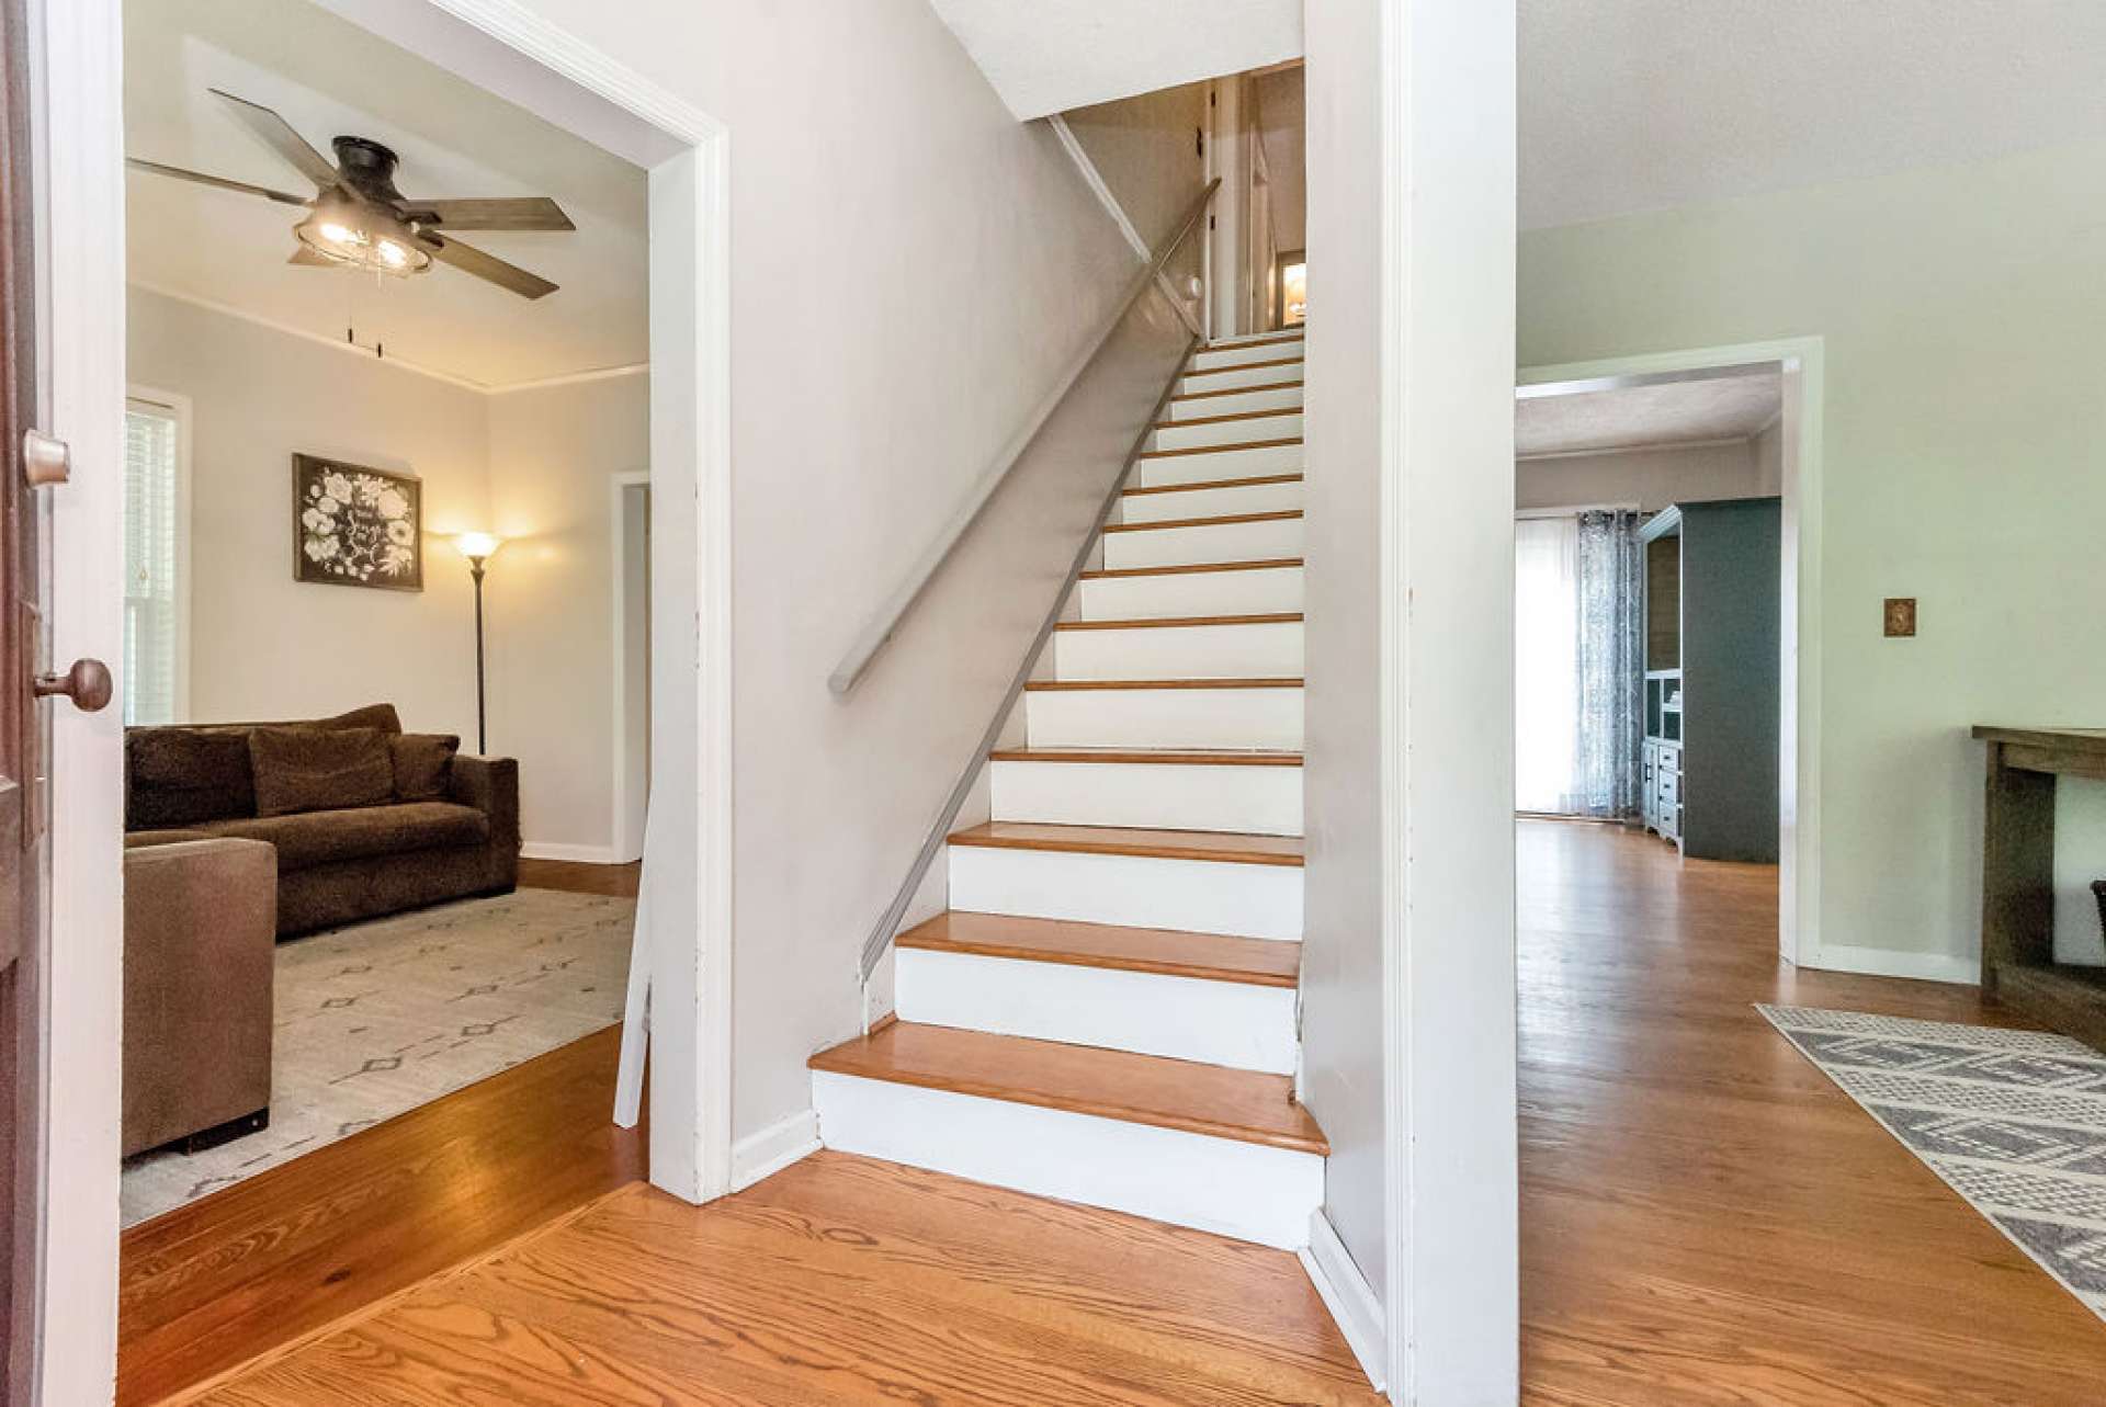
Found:
[[520, 889], [278, 944], [270, 1127], [128, 1158], [124, 1226], [613, 1026], [634, 916]]

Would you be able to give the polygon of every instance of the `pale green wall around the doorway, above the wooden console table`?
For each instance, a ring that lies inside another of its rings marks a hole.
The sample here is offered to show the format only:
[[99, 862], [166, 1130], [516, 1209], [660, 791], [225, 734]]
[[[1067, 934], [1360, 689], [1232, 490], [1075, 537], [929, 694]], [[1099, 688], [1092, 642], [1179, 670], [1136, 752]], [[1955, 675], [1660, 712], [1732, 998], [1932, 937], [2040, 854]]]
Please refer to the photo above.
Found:
[[[2091, 141], [1523, 238], [1523, 364], [1826, 339], [1824, 946], [1965, 975], [1967, 727], [2106, 716], [2102, 227]], [[1921, 600], [1916, 638], [1881, 638], [1885, 596]]]

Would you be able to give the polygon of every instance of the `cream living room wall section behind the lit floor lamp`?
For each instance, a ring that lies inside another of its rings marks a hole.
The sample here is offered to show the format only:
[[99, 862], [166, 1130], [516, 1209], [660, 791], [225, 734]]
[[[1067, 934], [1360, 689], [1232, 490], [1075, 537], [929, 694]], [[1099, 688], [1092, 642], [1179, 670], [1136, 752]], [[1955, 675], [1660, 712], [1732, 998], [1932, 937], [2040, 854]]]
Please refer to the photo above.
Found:
[[615, 474], [651, 459], [651, 377], [489, 398], [484, 583], [491, 750], [520, 758], [520, 828], [545, 855], [615, 855]]

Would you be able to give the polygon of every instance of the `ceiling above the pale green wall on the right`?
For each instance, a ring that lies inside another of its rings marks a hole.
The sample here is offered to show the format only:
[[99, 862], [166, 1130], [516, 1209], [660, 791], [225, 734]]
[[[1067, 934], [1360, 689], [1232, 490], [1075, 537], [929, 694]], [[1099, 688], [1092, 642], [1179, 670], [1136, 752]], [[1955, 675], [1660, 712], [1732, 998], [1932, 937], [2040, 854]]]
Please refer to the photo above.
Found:
[[1521, 0], [1523, 227], [2100, 133], [2100, 0]]

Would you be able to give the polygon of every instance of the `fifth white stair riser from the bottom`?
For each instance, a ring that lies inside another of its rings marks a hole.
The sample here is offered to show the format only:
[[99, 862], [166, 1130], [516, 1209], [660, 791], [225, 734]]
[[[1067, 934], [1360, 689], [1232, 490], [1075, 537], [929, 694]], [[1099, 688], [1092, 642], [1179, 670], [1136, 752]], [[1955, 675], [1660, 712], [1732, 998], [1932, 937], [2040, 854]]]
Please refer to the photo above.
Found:
[[1053, 689], [1024, 695], [1034, 748], [1302, 750], [1299, 689]]

